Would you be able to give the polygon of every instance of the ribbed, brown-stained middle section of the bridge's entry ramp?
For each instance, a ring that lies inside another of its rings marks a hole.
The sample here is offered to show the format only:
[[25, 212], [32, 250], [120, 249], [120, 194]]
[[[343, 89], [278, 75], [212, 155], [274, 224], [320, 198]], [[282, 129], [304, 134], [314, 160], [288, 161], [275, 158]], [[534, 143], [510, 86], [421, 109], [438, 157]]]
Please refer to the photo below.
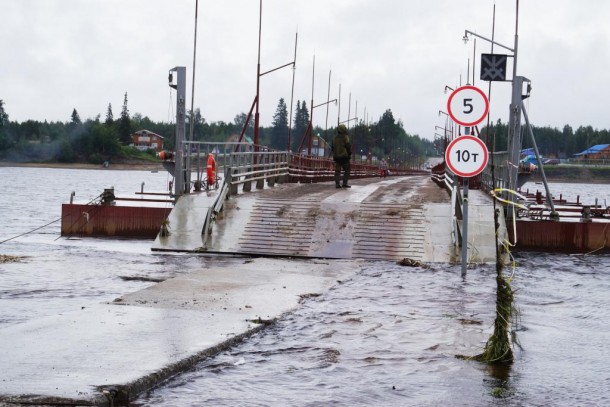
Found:
[[258, 199], [239, 240], [241, 253], [422, 260], [422, 205]]

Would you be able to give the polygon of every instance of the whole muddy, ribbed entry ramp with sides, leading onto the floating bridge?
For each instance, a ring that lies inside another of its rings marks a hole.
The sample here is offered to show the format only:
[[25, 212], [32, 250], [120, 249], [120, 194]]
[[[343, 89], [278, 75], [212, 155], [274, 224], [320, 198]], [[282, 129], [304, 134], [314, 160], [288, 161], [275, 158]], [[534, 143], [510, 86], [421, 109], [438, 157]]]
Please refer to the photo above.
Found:
[[[359, 179], [350, 189], [326, 182], [240, 193], [203, 236], [215, 193], [180, 198], [169, 218], [170, 235], [157, 237], [153, 250], [423, 262], [455, 262], [459, 255], [450, 196], [429, 176]], [[470, 261], [491, 262], [491, 200], [480, 191], [471, 194]]]

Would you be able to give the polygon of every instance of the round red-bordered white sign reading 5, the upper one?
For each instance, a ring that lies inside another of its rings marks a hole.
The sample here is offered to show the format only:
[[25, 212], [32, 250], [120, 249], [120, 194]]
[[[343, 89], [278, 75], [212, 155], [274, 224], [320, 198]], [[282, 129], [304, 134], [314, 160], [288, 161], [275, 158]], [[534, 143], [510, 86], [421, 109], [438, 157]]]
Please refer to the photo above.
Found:
[[460, 126], [471, 127], [485, 119], [489, 111], [489, 100], [475, 86], [462, 86], [454, 90], [447, 101], [447, 111]]

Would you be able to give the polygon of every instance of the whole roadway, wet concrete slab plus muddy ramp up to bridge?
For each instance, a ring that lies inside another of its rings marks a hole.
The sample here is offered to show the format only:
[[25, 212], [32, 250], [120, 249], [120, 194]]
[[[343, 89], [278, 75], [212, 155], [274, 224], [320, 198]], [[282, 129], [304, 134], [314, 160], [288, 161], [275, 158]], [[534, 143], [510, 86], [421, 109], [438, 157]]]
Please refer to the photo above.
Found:
[[[197, 218], [192, 208], [205, 210], [211, 198], [181, 198], [170, 238], [155, 248], [201, 250], [201, 228], [180, 219]], [[471, 195], [473, 262], [494, 259], [490, 202]], [[451, 262], [450, 205], [424, 176], [355, 180], [349, 190], [285, 184], [232, 197], [208, 252], [298, 258], [246, 258], [3, 328], [0, 404], [124, 403], [323, 295], [362, 259]]]

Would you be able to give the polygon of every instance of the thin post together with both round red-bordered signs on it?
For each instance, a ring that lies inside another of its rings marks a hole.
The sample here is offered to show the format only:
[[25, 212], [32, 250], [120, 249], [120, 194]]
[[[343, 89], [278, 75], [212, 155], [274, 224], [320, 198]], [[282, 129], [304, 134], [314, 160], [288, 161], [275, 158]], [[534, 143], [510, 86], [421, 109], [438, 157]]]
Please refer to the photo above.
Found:
[[[489, 153], [481, 139], [470, 135], [470, 127], [487, 116], [489, 101], [485, 93], [474, 86], [457, 88], [449, 96], [447, 111], [454, 122], [466, 127], [466, 135], [449, 143], [445, 162], [455, 175], [464, 179], [462, 193], [462, 276], [468, 265], [468, 179], [478, 175], [487, 166]], [[458, 187], [459, 188], [459, 187]]]

